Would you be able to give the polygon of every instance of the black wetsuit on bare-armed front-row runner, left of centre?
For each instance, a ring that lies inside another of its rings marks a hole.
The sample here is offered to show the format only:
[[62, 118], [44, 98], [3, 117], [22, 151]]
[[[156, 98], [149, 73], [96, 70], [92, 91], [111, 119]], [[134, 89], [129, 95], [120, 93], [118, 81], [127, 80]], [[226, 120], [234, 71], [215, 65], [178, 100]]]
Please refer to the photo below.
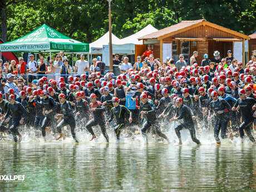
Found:
[[90, 107], [91, 109], [96, 108], [96, 110], [92, 112], [93, 119], [88, 121], [87, 124], [85, 125], [86, 129], [90, 132], [90, 134], [94, 135], [92, 126], [99, 125], [101, 128], [102, 134], [106, 138], [107, 142], [109, 142], [109, 136], [107, 135], [107, 132], [106, 132], [104, 116], [103, 116], [103, 112], [105, 111], [105, 108], [102, 106], [100, 101], [96, 101], [95, 104], [92, 104], [91, 102]]

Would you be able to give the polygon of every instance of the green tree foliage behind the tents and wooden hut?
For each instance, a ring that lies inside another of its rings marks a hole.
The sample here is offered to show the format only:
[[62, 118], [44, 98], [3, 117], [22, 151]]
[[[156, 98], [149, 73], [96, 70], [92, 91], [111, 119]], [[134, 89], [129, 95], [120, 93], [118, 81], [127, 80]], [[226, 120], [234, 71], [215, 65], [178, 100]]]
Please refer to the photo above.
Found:
[[[108, 31], [106, 0], [3, 0], [0, 11], [7, 13], [8, 41], [12, 41], [43, 23], [78, 41], [90, 43]], [[152, 24], [157, 29], [181, 20], [205, 18], [249, 35], [256, 31], [255, 0], [114, 0], [111, 3], [112, 32], [120, 38]], [[1, 17], [1, 22], [3, 18]], [[1, 23], [2, 24], [2, 23]]]

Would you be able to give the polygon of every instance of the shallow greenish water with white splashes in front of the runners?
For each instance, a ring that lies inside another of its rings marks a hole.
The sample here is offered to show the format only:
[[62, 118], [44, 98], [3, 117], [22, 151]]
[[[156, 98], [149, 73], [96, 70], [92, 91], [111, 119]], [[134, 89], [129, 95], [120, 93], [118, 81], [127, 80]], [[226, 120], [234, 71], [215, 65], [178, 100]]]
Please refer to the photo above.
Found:
[[110, 144], [80, 144], [71, 138], [58, 142], [24, 139], [0, 142], [0, 175], [25, 175], [23, 182], [0, 182], [0, 191], [256, 191], [256, 150], [248, 140], [223, 141], [203, 132], [196, 146], [187, 130], [183, 146], [140, 135]]

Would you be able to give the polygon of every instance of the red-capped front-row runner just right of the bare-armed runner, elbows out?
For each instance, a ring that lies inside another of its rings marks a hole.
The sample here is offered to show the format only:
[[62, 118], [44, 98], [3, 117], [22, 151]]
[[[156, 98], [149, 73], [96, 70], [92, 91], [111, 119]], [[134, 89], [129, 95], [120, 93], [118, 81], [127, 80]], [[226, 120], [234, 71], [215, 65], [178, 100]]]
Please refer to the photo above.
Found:
[[116, 119], [116, 126], [114, 127], [114, 131], [116, 134], [117, 141], [120, 140], [120, 134], [121, 130], [125, 128], [125, 117], [126, 114], [129, 114], [129, 122], [132, 122], [132, 112], [127, 109], [124, 105], [119, 105], [120, 100], [117, 97], [112, 98], [112, 104], [114, 107], [111, 109], [111, 116], [110, 119], [106, 121], [106, 126], [109, 125], [109, 122], [111, 122], [114, 119]]

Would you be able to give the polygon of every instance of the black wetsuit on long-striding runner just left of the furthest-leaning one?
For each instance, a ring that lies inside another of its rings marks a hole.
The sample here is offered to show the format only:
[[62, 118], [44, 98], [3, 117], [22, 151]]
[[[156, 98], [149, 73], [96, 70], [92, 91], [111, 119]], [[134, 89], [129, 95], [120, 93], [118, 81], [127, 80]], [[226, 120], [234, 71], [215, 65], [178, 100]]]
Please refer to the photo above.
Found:
[[166, 137], [165, 134], [163, 134], [163, 132], [161, 132], [159, 125], [157, 124], [156, 107], [155, 107], [153, 101], [147, 100], [147, 102], [145, 104], [143, 104], [140, 101], [140, 111], [146, 112], [146, 114], [144, 114], [144, 121], [143, 121], [142, 129], [141, 129], [142, 136], [144, 136], [147, 140], [146, 130], [149, 129], [150, 126], [152, 126], [152, 127], [154, 127], [156, 133], [159, 136], [161, 136], [167, 140], [168, 138]]

